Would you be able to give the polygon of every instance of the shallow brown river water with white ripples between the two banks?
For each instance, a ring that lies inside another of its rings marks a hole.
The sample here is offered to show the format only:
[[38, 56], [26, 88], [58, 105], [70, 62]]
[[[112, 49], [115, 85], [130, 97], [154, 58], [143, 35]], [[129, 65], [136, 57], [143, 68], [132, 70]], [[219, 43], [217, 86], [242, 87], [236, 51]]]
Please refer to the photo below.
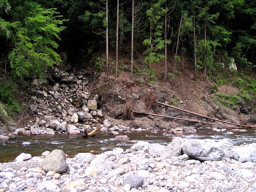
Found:
[[[113, 148], [130, 148], [139, 141], [147, 141], [150, 143], [159, 143], [168, 145], [174, 135], [158, 132], [153, 134], [150, 132], [140, 131], [127, 134], [129, 141], [117, 141], [110, 133], [98, 133], [94, 138], [81, 138], [80, 135], [37, 135], [37, 136], [17, 136], [14, 140], [0, 142], [0, 162], [10, 162], [21, 153], [29, 153], [32, 156], [40, 156], [42, 152], [54, 149], [61, 149], [70, 157], [77, 153], [90, 152], [99, 154]], [[248, 129], [248, 132], [235, 132], [234, 135], [226, 133], [214, 133], [209, 131], [198, 131], [196, 134], [184, 134], [183, 138], [188, 139], [206, 139], [210, 138], [215, 141], [222, 138], [230, 138], [234, 145], [249, 144], [256, 142], [256, 132], [254, 129]]]

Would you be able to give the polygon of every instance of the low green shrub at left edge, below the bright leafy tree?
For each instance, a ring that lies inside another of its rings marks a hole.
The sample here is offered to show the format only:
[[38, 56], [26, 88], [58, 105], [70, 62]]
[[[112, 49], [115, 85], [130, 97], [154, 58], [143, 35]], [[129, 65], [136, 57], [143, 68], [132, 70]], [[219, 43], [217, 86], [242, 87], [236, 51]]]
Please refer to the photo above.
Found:
[[0, 84], [0, 101], [2, 103], [2, 112], [17, 112], [20, 111], [20, 105], [14, 100], [14, 93], [17, 85], [10, 82], [2, 82]]

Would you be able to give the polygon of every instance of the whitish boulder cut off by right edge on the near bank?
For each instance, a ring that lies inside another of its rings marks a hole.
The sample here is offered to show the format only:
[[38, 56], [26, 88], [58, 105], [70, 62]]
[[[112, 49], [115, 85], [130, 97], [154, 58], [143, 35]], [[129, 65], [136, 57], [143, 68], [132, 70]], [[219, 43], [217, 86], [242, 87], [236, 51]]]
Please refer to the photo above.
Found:
[[239, 162], [254, 162], [256, 160], [256, 143], [234, 146], [233, 158]]

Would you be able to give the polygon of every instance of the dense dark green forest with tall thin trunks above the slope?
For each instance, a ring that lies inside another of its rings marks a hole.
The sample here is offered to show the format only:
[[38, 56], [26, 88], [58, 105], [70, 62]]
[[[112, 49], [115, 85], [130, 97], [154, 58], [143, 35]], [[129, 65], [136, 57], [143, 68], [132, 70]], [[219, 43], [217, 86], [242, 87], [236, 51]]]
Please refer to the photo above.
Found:
[[[149, 70], [160, 61], [165, 61], [166, 69], [168, 57], [174, 60], [175, 71], [186, 56], [193, 63], [194, 80], [198, 70], [204, 78], [214, 68], [255, 72], [256, 4], [253, 0], [0, 0], [0, 44], [1, 70], [22, 82], [44, 78], [46, 68], [61, 62], [61, 52], [72, 66], [79, 66], [101, 50], [108, 72], [108, 49], [117, 56], [126, 51], [132, 64], [133, 52], [140, 52]], [[166, 80], [166, 70], [163, 73]]]

